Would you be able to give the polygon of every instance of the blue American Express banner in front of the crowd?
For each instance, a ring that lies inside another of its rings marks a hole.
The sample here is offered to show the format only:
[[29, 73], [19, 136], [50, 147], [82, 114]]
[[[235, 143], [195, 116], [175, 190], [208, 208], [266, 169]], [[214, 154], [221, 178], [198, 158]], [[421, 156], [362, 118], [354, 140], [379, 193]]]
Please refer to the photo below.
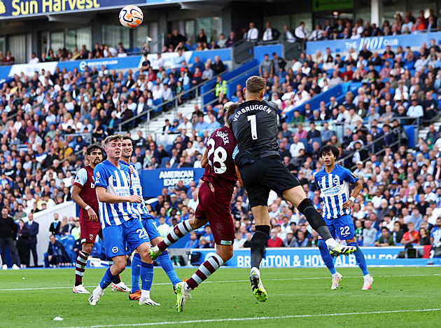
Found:
[[179, 180], [183, 181], [184, 186], [188, 186], [192, 181], [197, 185], [199, 179], [204, 175], [202, 168], [141, 170], [140, 172], [142, 192], [146, 198], [160, 195], [164, 187], [172, 189]]

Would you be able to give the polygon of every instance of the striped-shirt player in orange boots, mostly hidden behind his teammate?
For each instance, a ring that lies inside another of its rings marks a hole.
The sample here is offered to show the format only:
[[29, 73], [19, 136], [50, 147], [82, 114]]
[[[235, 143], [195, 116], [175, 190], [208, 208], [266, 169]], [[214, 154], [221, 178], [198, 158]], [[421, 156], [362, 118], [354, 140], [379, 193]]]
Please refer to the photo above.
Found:
[[[132, 169], [130, 170], [131, 172], [130, 178], [132, 179], [133, 191], [135, 195], [138, 195], [142, 198], [143, 196], [142, 196], [141, 178], [139, 177], [139, 172], [134, 167], [134, 164], [130, 161], [130, 158], [132, 158], [132, 153], [133, 153], [132, 139], [128, 135], [124, 135], [122, 142], [122, 153], [121, 153], [120, 164], [121, 166], [126, 166], [127, 168], [132, 167]], [[151, 242], [153, 246], [158, 245], [161, 242], [162, 237], [158, 231], [158, 228], [156, 227], [155, 218], [153, 217], [152, 214], [148, 212], [144, 200], [141, 203], [134, 203], [133, 206], [134, 206], [134, 210], [139, 212], [139, 215], [141, 217], [141, 224], [144, 226], [144, 228], [147, 231], [148, 238], [150, 239], [149, 242]], [[160, 257], [158, 257], [158, 262], [164, 269], [165, 273], [167, 273], [167, 276], [169, 277], [173, 286], [176, 285], [178, 282], [181, 282], [181, 280], [176, 275], [176, 272], [174, 271], [172, 261], [170, 260], [169, 253], [167, 251], [162, 252]], [[141, 257], [139, 256], [139, 253], [135, 253], [132, 259], [132, 292], [129, 295], [129, 299], [131, 300], [137, 300], [140, 298], [140, 292], [139, 292], [140, 268], [141, 268]]]

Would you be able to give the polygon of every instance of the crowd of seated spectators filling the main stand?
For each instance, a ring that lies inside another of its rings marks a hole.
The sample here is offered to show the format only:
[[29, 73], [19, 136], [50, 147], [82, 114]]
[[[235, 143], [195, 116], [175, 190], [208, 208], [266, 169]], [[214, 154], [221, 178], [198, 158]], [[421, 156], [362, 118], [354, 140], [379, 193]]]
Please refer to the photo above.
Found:
[[[78, 70], [42, 71], [30, 79], [23, 74], [5, 83], [0, 90], [0, 207], [8, 208], [9, 215], [20, 221], [71, 200], [74, 172], [87, 164], [87, 142], [79, 135], [69, 135], [84, 133], [100, 141], [118, 130], [120, 122], [153, 106], [155, 100], [167, 100], [164, 94], [168, 90], [179, 95], [184, 83], [200, 83], [221, 67], [219, 58], [206, 63], [195, 60], [190, 71], [181, 60], [183, 49], [177, 51], [179, 60], [168, 74], [158, 54], [157, 61], [145, 58], [141, 69], [135, 74], [128, 71], [127, 76], [105, 67], [86, 67], [83, 74]], [[416, 118], [433, 121], [437, 116], [440, 68], [440, 48], [435, 40], [429, 46], [423, 43], [416, 53], [401, 46], [395, 51], [386, 48], [382, 54], [363, 48], [360, 53], [351, 50], [339, 55], [327, 49], [325, 55], [316, 53], [314, 57], [302, 53], [292, 62], [273, 53], [271, 60], [265, 55], [260, 64], [259, 74], [267, 80], [265, 100], [279, 107], [281, 159], [318, 211], [322, 204], [313, 177], [323, 168], [320, 146], [334, 144], [340, 149], [340, 158], [352, 155], [344, 164], [356, 165], [355, 173], [364, 186], [353, 205], [360, 245], [433, 242], [430, 232], [440, 225], [437, 218], [441, 214], [437, 211], [441, 205], [441, 130], [430, 124], [427, 137], [408, 148], [402, 125], [414, 123]], [[213, 105], [204, 109], [195, 105], [190, 117], [178, 114], [172, 122], [166, 120], [162, 130], [175, 135], [172, 145], [157, 144], [141, 131], [132, 136], [132, 162], [137, 169], [201, 167], [207, 139], [223, 125], [223, 104], [228, 101], [224, 81], [218, 77], [216, 82], [217, 101]], [[342, 101], [330, 97], [314, 110], [307, 104], [311, 97], [344, 82], [360, 82], [361, 86], [356, 94], [346, 93]], [[244, 101], [241, 86], [230, 100]], [[286, 114], [293, 110], [293, 119], [288, 121]], [[346, 124], [341, 139], [331, 129], [336, 123]], [[309, 128], [304, 129], [306, 125]], [[316, 129], [316, 125], [322, 126]], [[171, 226], [194, 215], [197, 190], [195, 182], [189, 186], [180, 182], [158, 196], [151, 213], [163, 236]], [[295, 207], [275, 194], [268, 205], [272, 223], [268, 247], [316, 245], [315, 231]], [[235, 248], [248, 247], [253, 217], [246, 192], [239, 185], [232, 200], [232, 216]], [[64, 222], [64, 227], [71, 223]], [[192, 234], [188, 243], [188, 247], [212, 246], [209, 227]]]

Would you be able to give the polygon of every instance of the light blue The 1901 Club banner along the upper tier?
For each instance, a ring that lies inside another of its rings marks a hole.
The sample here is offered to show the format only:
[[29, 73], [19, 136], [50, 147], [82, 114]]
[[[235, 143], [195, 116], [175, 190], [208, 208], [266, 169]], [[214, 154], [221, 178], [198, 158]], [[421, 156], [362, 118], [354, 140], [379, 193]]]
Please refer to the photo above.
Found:
[[402, 34], [397, 36], [372, 36], [370, 38], [354, 40], [314, 41], [307, 43], [307, 54], [314, 55], [317, 50], [320, 50], [323, 54], [325, 53], [326, 48], [330, 48], [332, 53], [346, 52], [350, 48], [353, 48], [358, 52], [363, 49], [363, 44], [365, 44], [367, 50], [370, 51], [383, 50], [386, 46], [391, 46], [391, 48], [397, 48], [398, 46], [402, 46], [402, 48], [407, 46], [421, 47], [421, 43], [423, 42], [426, 42], [426, 44], [429, 45], [430, 39], [435, 39], [436, 44], [439, 44], [441, 41], [441, 32]]

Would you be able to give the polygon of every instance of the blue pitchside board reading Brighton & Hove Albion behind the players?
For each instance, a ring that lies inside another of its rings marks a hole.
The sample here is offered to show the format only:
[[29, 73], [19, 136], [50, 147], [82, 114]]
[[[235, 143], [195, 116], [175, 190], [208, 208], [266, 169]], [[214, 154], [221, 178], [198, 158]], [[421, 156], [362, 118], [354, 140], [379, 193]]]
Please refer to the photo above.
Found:
[[[404, 247], [360, 247], [365, 254], [367, 266], [409, 266], [425, 265], [428, 259], [398, 259], [398, 253]], [[197, 249], [200, 252], [201, 262], [216, 253], [214, 249]], [[237, 268], [251, 267], [251, 253], [249, 248], [235, 250], [233, 257], [226, 263], [227, 266]], [[311, 248], [266, 248], [265, 257], [260, 264], [263, 268], [325, 268], [317, 247]], [[337, 257], [337, 267], [358, 267], [355, 255]]]

